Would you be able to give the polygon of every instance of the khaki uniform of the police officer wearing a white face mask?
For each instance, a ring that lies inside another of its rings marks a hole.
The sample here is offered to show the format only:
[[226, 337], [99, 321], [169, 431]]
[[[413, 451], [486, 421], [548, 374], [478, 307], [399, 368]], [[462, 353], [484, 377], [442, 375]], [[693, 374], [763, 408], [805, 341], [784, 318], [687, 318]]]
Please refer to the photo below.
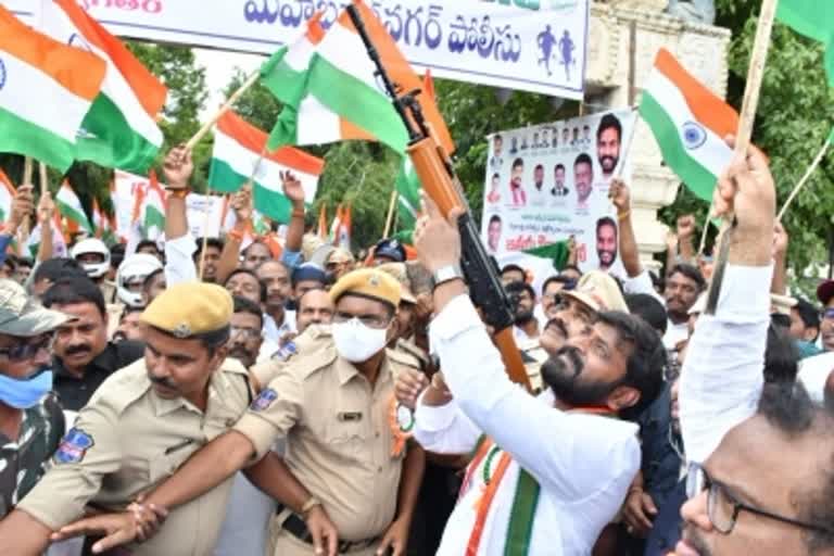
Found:
[[[375, 295], [376, 278], [365, 289], [361, 285], [345, 289], [341, 282], [378, 275], [366, 270], [346, 275], [332, 290], [334, 301], [345, 292]], [[388, 280], [396, 289], [390, 277], [382, 279], [382, 286], [390, 287]], [[395, 517], [404, 451], [393, 453], [394, 381], [412, 362], [387, 350], [379, 377], [371, 386], [356, 367], [339, 356], [332, 339], [326, 343], [320, 340], [315, 349], [302, 349], [280, 366], [235, 426], [250, 439], [258, 458], [270, 450], [276, 438], [286, 437], [287, 465], [321, 501], [340, 541], [351, 543], [342, 547], [344, 553], [376, 554]], [[293, 519], [298, 522], [300, 517], [289, 510], [276, 517], [275, 556], [313, 554], [313, 545], [291, 532], [288, 520]]]

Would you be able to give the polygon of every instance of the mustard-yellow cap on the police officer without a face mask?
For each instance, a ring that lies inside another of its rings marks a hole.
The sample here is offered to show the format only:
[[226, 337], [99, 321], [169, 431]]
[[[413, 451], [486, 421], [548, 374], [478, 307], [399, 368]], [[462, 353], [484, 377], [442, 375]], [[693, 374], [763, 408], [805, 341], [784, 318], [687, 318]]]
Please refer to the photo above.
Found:
[[139, 319], [177, 338], [213, 332], [229, 325], [231, 294], [215, 283], [177, 283], [156, 296]]

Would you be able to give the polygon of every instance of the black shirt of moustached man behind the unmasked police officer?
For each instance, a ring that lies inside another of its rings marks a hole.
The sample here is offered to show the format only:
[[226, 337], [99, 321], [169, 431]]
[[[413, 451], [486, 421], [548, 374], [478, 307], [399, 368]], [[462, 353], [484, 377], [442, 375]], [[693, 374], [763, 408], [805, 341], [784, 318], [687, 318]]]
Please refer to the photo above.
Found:
[[64, 409], [77, 412], [90, 401], [104, 379], [122, 367], [127, 367], [144, 354], [141, 342], [108, 342], [104, 351], [98, 354], [84, 369], [81, 378], [76, 378], [66, 370], [58, 357], [52, 357], [52, 370], [55, 374], [54, 391]]

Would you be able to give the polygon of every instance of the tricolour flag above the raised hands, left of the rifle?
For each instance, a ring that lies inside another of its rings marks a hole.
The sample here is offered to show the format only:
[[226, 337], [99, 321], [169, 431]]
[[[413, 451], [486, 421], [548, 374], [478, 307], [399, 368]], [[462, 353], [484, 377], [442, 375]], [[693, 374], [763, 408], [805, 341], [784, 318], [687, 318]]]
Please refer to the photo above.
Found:
[[291, 147], [266, 152], [266, 132], [229, 111], [217, 122], [208, 186], [223, 192], [238, 191], [250, 179], [255, 210], [279, 222], [290, 222], [292, 205], [283, 195], [281, 173], [301, 180], [304, 201], [316, 197], [325, 161]]

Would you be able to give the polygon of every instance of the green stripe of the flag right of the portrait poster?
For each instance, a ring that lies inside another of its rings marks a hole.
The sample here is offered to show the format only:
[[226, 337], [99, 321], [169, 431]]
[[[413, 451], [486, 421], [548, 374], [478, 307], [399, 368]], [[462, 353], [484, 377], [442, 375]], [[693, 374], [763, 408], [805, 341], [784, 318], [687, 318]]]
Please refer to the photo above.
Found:
[[643, 100], [640, 103], [640, 115], [652, 128], [657, 139], [660, 152], [666, 164], [675, 173], [684, 185], [704, 201], [712, 201], [712, 190], [716, 187], [717, 176], [700, 165], [681, 142], [678, 126], [669, 114], [648, 93], [643, 91]]

